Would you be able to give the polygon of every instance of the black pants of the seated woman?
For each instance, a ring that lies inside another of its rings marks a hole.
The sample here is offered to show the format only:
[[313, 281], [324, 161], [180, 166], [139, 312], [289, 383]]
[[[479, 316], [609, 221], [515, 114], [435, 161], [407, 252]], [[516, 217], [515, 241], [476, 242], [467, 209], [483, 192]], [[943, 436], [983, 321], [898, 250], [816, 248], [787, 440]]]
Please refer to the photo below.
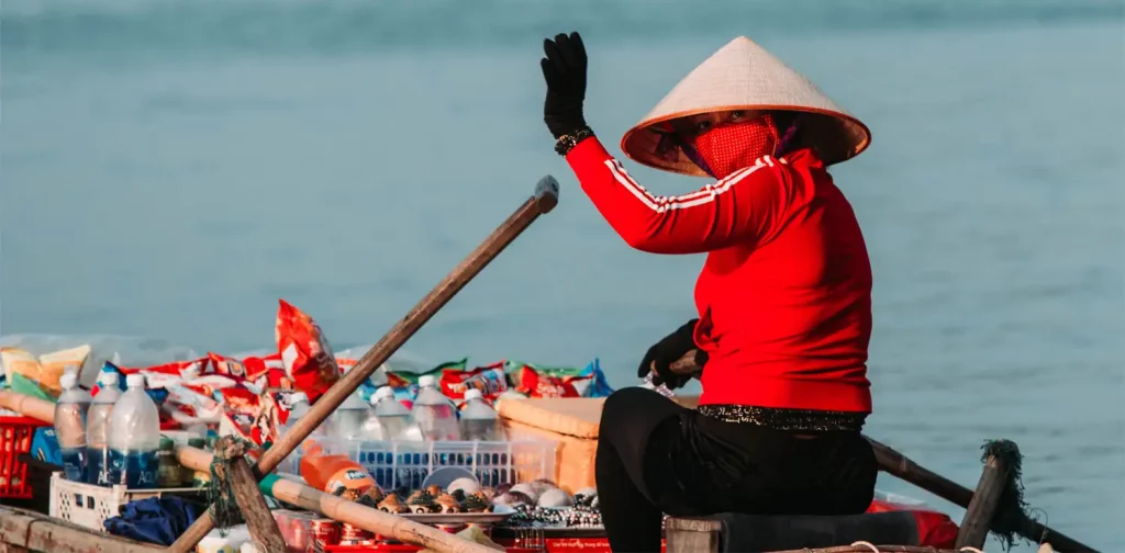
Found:
[[863, 513], [876, 472], [858, 433], [810, 438], [723, 423], [644, 388], [605, 400], [595, 462], [614, 552], [659, 551], [663, 514]]

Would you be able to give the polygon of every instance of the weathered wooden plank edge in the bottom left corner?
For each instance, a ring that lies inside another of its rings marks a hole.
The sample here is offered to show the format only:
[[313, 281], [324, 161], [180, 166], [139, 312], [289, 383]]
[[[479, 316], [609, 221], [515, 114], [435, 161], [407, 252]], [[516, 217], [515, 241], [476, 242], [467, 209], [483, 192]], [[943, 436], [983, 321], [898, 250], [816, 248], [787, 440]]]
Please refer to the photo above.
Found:
[[159, 553], [164, 551], [163, 547], [92, 532], [57, 518], [11, 507], [0, 507], [0, 544], [14, 553], [26, 551]]

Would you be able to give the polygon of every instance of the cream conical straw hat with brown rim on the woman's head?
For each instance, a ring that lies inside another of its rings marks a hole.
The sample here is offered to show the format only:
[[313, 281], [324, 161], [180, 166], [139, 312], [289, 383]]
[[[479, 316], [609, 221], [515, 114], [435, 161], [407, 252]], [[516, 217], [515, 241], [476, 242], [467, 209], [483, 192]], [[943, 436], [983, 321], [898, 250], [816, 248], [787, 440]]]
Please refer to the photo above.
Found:
[[790, 69], [762, 46], [740, 36], [692, 70], [668, 96], [621, 138], [621, 149], [632, 160], [676, 173], [705, 176], [680, 152], [660, 154], [663, 123], [681, 117], [729, 110], [788, 110], [802, 118], [803, 142], [811, 144], [826, 164], [839, 163], [871, 144], [866, 125], [834, 103], [816, 84]]

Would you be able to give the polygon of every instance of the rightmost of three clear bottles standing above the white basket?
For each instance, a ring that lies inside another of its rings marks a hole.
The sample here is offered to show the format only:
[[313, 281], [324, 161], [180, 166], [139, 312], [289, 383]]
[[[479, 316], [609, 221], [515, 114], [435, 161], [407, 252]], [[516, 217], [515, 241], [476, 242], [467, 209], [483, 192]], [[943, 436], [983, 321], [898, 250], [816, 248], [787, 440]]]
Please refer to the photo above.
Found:
[[156, 487], [160, 411], [144, 390], [144, 375], [129, 374], [128, 390], [109, 417], [109, 482], [130, 489]]

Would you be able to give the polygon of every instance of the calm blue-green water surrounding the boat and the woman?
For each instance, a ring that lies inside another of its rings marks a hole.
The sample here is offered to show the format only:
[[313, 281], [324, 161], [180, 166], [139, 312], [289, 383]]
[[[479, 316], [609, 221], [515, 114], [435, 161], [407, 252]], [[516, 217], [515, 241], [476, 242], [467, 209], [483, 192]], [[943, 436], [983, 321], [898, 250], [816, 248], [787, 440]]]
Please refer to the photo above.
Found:
[[[1011, 438], [1048, 524], [1123, 551], [1123, 10], [6, 0], [0, 325], [236, 352], [272, 344], [284, 297], [333, 344], [370, 343], [554, 173], [559, 208], [407, 348], [596, 355], [632, 383], [691, 316], [702, 259], [628, 250], [583, 197], [540, 120], [539, 44], [584, 33], [587, 118], [616, 152], [746, 34], [874, 130], [834, 170], [874, 265], [870, 434], [970, 486], [982, 441]], [[660, 193], [703, 183], [629, 169]]]

